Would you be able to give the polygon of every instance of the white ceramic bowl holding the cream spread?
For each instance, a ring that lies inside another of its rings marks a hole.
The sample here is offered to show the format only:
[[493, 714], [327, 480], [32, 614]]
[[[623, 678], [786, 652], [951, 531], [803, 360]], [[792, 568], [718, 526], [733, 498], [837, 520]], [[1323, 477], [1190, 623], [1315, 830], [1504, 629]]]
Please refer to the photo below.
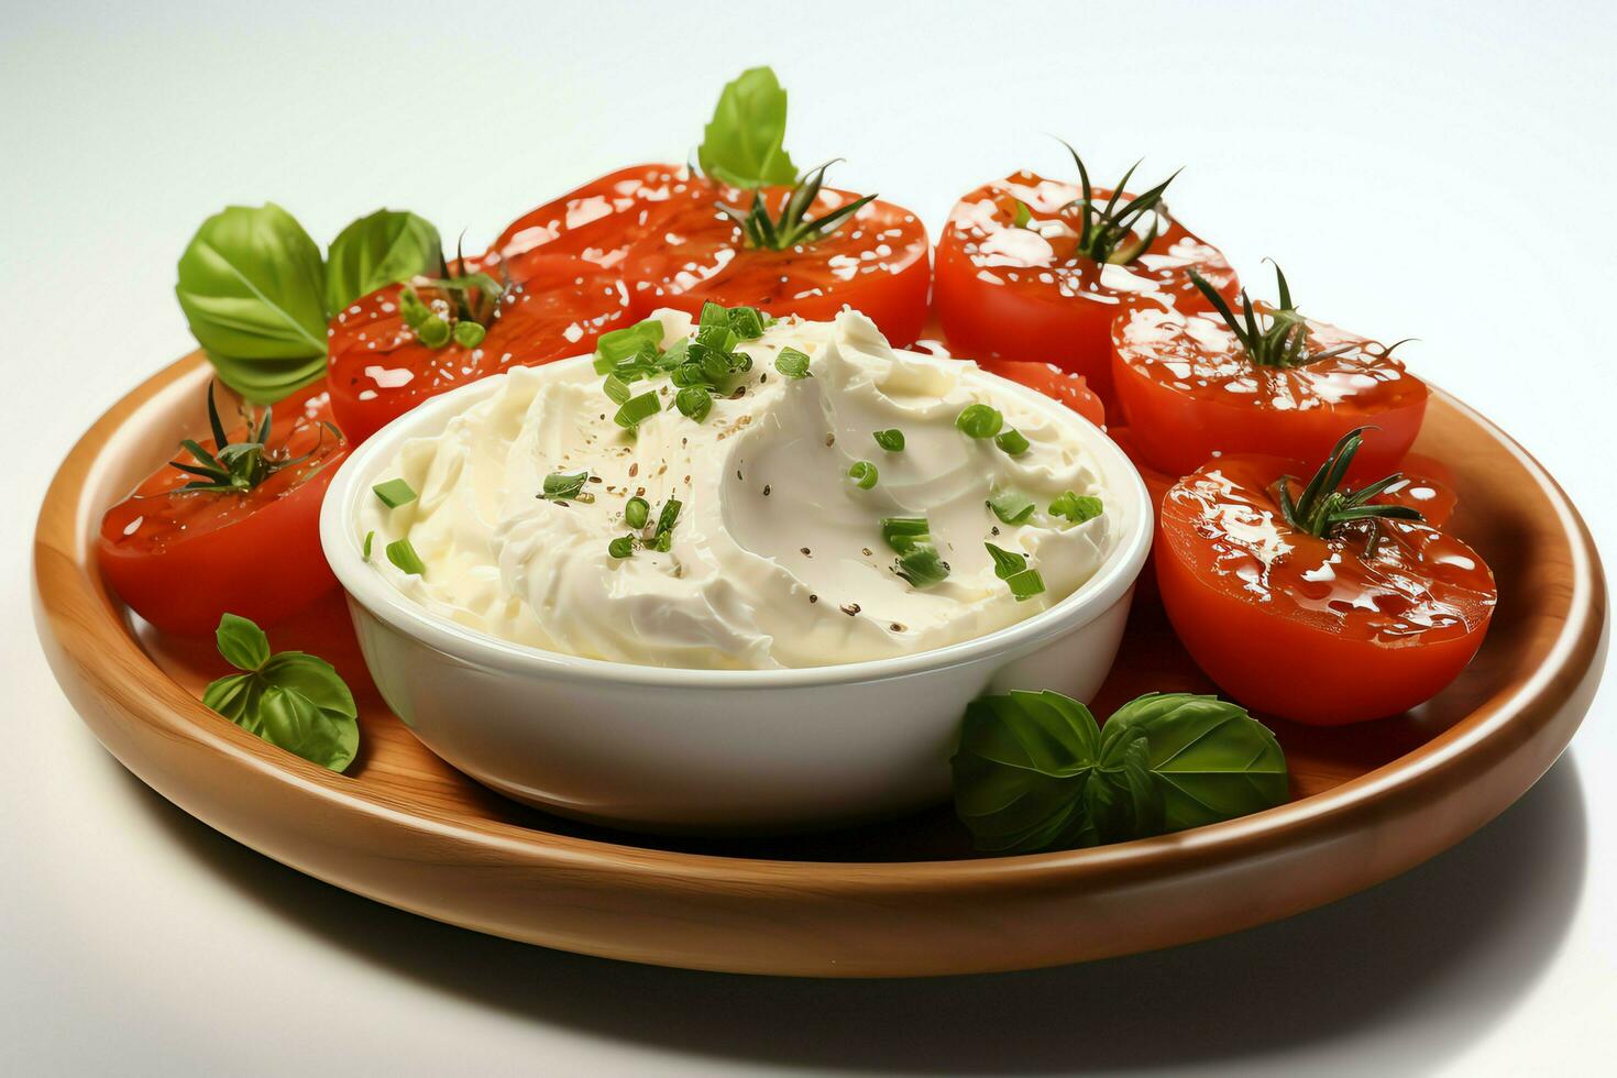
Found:
[[1098, 428], [1003, 380], [1004, 393], [1085, 440], [1117, 525], [1100, 572], [1022, 622], [894, 659], [710, 671], [540, 651], [430, 614], [365, 564], [361, 498], [407, 438], [440, 433], [500, 383], [433, 398], [359, 446], [331, 480], [320, 541], [383, 700], [432, 752], [501, 794], [644, 831], [787, 831], [897, 815], [949, 795], [970, 700], [1007, 688], [1088, 700], [1111, 669], [1151, 545], [1145, 485]]

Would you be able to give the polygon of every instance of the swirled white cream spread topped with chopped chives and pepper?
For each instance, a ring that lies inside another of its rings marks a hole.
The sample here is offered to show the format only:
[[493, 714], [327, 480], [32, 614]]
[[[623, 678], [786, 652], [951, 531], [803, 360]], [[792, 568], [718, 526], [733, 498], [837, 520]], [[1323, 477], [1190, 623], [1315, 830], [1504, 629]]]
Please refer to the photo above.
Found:
[[[684, 314], [644, 328], [660, 341], [642, 359], [703, 352]], [[370, 562], [503, 640], [765, 669], [980, 637], [1080, 588], [1116, 545], [1093, 432], [975, 364], [894, 352], [854, 312], [726, 352], [705, 414], [700, 391], [676, 406], [697, 380], [673, 362], [629, 381], [589, 362], [501, 375], [380, 474], [416, 498], [365, 495]]]

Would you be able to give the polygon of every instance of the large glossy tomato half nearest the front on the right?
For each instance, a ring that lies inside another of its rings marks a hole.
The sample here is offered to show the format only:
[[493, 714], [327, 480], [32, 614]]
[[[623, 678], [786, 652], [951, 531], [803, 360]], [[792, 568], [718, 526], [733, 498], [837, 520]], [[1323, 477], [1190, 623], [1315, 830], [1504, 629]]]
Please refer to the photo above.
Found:
[[1488, 632], [1488, 566], [1425, 524], [1383, 520], [1371, 558], [1362, 533], [1297, 533], [1269, 493], [1286, 474], [1310, 465], [1224, 457], [1167, 491], [1156, 575], [1174, 632], [1222, 692], [1266, 714], [1339, 726], [1429, 700]]

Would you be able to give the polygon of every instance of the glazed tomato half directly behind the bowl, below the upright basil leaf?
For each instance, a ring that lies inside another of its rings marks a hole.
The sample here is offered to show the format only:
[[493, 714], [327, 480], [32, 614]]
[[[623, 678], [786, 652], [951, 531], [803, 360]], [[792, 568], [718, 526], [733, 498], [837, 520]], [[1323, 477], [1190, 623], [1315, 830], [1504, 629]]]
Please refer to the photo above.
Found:
[[[763, 187], [765, 207], [779, 215], [791, 187]], [[821, 217], [859, 196], [821, 187], [810, 217]], [[678, 307], [692, 315], [711, 301], [757, 307], [771, 315], [823, 322], [842, 305], [860, 310], [896, 346], [920, 336], [931, 283], [927, 229], [914, 213], [872, 200], [826, 234], [786, 251], [747, 244], [742, 226], [720, 202], [747, 207], [750, 192], [715, 189], [660, 218], [655, 234], [629, 249], [623, 270], [635, 314]]]

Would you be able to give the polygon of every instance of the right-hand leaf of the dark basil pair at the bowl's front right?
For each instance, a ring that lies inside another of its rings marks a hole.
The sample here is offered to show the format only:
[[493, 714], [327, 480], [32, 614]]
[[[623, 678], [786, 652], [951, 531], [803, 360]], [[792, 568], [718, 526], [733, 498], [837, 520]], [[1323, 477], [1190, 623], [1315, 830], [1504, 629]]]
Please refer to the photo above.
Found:
[[1125, 771], [1127, 753], [1142, 739], [1163, 798], [1161, 831], [1234, 819], [1289, 795], [1286, 753], [1239, 705], [1193, 693], [1140, 697], [1106, 721], [1101, 768]]

